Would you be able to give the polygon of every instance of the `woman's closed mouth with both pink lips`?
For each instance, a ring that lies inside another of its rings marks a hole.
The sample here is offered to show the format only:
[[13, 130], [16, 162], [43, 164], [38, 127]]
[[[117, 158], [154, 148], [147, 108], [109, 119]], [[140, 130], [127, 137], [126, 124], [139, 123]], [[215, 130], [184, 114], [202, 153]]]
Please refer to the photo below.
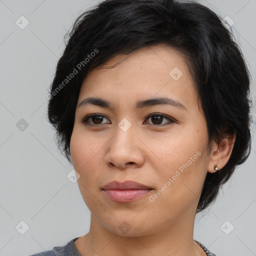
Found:
[[105, 195], [116, 202], [129, 202], [149, 193], [152, 188], [135, 181], [111, 181], [101, 188]]

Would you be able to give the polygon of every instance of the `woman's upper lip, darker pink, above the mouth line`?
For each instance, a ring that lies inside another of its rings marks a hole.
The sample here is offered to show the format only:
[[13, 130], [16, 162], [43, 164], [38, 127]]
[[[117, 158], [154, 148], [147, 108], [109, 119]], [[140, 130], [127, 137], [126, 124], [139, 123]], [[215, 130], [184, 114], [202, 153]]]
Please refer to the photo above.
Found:
[[119, 182], [116, 180], [113, 180], [107, 184], [105, 184], [102, 187], [103, 190], [107, 189], [116, 189], [116, 190], [131, 190], [131, 189], [151, 189], [150, 187], [143, 185], [141, 183], [132, 181], [132, 180], [127, 180], [124, 182]]

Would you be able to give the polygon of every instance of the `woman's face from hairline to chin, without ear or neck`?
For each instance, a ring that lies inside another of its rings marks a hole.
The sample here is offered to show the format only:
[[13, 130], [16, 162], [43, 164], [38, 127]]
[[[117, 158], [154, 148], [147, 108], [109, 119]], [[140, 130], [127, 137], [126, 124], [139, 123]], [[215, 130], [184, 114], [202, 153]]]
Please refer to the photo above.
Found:
[[[206, 120], [192, 77], [180, 53], [164, 45], [140, 48], [114, 68], [102, 68], [124, 58], [93, 69], [80, 89], [70, 151], [81, 195], [97, 224], [122, 236], [187, 228], [209, 169]], [[89, 97], [109, 106], [79, 106]], [[131, 199], [127, 191], [102, 189], [114, 180], [151, 190]]]

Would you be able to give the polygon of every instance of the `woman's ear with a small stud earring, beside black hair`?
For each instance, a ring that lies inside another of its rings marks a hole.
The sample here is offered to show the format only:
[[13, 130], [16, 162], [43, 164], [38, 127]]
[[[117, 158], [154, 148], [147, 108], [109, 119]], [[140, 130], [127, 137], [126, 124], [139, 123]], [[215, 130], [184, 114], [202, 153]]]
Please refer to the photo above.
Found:
[[217, 171], [214, 169], [215, 164], [218, 166], [218, 170], [225, 166], [233, 150], [235, 137], [235, 134], [231, 134], [222, 138], [219, 144], [213, 142], [207, 165], [208, 172]]

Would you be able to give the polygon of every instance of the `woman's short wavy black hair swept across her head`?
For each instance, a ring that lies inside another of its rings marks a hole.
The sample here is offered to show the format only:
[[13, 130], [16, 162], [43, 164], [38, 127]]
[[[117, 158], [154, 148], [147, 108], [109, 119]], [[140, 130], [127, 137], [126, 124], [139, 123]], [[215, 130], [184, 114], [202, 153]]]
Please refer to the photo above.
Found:
[[185, 55], [190, 64], [209, 148], [211, 141], [219, 143], [236, 134], [225, 166], [207, 172], [196, 212], [212, 203], [251, 150], [250, 73], [232, 30], [221, 21], [204, 5], [177, 0], [105, 0], [80, 14], [65, 35], [48, 96], [48, 121], [68, 161], [76, 104], [88, 71], [115, 55], [163, 43]]

